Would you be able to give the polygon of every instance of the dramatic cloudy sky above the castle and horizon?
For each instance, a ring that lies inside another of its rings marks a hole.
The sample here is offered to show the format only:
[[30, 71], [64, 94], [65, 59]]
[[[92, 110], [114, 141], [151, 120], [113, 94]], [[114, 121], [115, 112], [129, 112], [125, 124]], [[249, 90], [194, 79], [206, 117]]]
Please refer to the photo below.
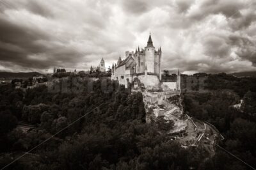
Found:
[[161, 46], [163, 70], [256, 70], [255, 0], [0, 0], [0, 70], [88, 70]]

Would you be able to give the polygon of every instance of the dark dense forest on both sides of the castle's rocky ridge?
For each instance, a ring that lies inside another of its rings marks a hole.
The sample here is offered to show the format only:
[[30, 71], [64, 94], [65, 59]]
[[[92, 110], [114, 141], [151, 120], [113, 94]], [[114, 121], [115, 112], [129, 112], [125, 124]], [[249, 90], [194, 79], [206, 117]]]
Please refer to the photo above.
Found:
[[[209, 158], [200, 148], [182, 148], [161, 127], [162, 119], [145, 123], [141, 93], [109, 79], [86, 82], [92, 91], [73, 93], [72, 79], [65, 82], [69, 91], [56, 93], [45, 86], [26, 92], [1, 86], [0, 167], [56, 134], [6, 169], [247, 168], [218, 148]], [[102, 81], [111, 90], [103, 90]], [[244, 93], [241, 109], [235, 109], [240, 96], [232, 89], [184, 94], [184, 109], [216, 125], [225, 136], [221, 146], [255, 166], [255, 93]], [[35, 128], [22, 133], [20, 122]]]

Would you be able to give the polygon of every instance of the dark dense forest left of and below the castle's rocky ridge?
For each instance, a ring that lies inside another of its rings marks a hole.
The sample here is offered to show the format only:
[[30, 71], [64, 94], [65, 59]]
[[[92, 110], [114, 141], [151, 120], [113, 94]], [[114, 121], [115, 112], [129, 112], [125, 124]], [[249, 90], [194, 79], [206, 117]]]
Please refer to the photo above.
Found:
[[[154, 125], [156, 122], [145, 123], [141, 93], [131, 94], [111, 81], [107, 86], [113, 90], [102, 91], [100, 81], [93, 82], [93, 92], [84, 91], [79, 95], [49, 93], [45, 86], [26, 93], [12, 86], [1, 86], [0, 166], [6, 166], [84, 114], [81, 120], [7, 169], [188, 169], [198, 166], [200, 157], [194, 155], [195, 148], [180, 148], [163, 127]], [[15, 128], [20, 121], [36, 128], [22, 133]]]

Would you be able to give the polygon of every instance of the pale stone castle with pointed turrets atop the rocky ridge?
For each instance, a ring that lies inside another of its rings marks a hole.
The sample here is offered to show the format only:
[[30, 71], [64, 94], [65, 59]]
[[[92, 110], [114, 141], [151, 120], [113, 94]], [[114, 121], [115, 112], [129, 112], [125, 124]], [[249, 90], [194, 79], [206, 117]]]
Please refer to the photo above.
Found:
[[119, 59], [112, 65], [111, 79], [116, 80], [125, 88], [133, 89], [163, 89], [180, 90], [180, 74], [175, 81], [162, 81], [161, 76], [161, 47], [156, 50], [151, 35], [149, 35], [145, 49], [136, 49], [135, 52], [125, 52], [125, 59]]

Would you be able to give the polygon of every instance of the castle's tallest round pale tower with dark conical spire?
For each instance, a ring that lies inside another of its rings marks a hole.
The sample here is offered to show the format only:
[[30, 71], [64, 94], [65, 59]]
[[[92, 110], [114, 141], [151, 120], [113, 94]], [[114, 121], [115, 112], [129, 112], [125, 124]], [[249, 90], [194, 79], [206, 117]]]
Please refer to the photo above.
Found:
[[153, 45], [151, 35], [149, 35], [147, 47], [145, 47], [145, 65], [147, 65], [148, 73], [155, 72], [154, 60], [155, 60], [155, 47]]

